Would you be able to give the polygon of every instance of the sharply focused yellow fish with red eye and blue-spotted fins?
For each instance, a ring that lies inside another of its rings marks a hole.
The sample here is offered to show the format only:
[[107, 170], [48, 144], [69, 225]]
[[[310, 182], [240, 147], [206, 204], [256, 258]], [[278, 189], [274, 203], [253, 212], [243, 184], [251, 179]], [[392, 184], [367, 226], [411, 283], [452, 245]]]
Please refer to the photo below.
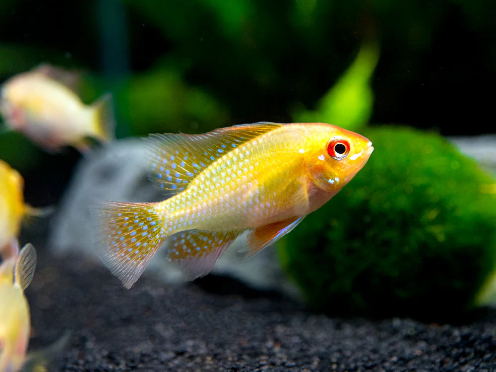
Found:
[[169, 240], [186, 278], [206, 275], [249, 231], [249, 255], [294, 229], [369, 159], [365, 137], [335, 125], [255, 123], [197, 134], [152, 135], [158, 203], [107, 202], [100, 210], [104, 263], [126, 288]]

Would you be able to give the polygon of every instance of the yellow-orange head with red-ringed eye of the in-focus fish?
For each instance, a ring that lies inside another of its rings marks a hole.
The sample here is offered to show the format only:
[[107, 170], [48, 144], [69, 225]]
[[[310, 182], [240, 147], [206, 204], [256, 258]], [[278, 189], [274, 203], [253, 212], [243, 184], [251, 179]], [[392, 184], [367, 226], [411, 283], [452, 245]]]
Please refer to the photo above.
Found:
[[324, 191], [337, 192], [350, 182], [373, 151], [366, 137], [331, 124], [315, 124], [309, 137], [308, 177]]

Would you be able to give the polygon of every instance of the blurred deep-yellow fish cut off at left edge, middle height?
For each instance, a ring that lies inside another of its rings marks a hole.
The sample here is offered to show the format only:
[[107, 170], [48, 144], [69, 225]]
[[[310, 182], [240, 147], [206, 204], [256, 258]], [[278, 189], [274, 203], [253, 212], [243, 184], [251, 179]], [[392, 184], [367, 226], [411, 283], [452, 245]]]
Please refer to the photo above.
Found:
[[16, 244], [22, 217], [28, 208], [24, 204], [24, 180], [3, 160], [0, 160], [0, 252]]

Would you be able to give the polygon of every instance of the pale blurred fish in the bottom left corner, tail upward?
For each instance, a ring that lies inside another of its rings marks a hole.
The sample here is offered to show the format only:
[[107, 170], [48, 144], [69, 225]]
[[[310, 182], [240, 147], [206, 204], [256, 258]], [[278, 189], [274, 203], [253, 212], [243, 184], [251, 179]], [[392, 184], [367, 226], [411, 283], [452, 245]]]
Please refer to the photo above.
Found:
[[24, 289], [36, 267], [36, 250], [26, 244], [0, 265], [0, 371], [19, 371], [26, 359], [31, 327]]

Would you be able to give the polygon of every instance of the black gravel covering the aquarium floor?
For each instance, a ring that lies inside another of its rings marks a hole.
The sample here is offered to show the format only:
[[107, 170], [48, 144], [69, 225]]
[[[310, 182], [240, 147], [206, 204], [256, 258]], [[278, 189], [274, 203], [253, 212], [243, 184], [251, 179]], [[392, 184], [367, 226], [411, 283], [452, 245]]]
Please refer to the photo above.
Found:
[[[27, 297], [30, 350], [69, 342], [50, 371], [494, 371], [496, 310], [462, 325], [314, 314], [227, 278], [127, 291], [79, 257], [40, 263]], [[426, 304], [429, 306], [429, 304]]]

